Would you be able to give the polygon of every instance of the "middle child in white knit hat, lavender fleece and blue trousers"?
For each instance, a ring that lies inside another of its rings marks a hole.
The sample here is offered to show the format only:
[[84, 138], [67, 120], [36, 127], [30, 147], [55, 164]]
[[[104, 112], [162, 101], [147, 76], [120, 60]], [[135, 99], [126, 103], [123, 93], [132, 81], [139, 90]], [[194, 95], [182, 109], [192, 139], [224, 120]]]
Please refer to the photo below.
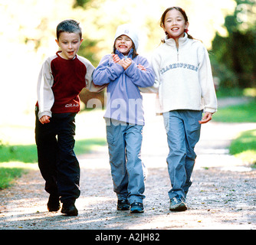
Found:
[[139, 56], [138, 36], [130, 24], [117, 28], [113, 54], [100, 60], [93, 74], [96, 85], [107, 84], [107, 143], [117, 209], [143, 212], [144, 165], [140, 151], [144, 126], [139, 87], [153, 86], [155, 76], [145, 57]]

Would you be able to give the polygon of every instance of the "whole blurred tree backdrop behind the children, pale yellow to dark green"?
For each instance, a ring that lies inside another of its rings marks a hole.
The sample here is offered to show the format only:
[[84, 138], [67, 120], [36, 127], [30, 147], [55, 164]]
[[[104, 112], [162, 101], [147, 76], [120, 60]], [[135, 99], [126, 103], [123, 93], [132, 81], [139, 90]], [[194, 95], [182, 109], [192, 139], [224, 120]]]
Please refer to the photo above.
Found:
[[[139, 54], [150, 59], [164, 36], [162, 12], [179, 5], [189, 16], [189, 33], [210, 51], [219, 87], [255, 87], [256, 0], [0, 0], [0, 126], [22, 123], [33, 113], [38, 72], [43, 60], [55, 54], [57, 24], [67, 18], [80, 22], [84, 41], [79, 54], [96, 67], [113, 47], [119, 24], [139, 30]], [[86, 103], [92, 93], [81, 94]], [[2, 137], [0, 136], [0, 139]]]

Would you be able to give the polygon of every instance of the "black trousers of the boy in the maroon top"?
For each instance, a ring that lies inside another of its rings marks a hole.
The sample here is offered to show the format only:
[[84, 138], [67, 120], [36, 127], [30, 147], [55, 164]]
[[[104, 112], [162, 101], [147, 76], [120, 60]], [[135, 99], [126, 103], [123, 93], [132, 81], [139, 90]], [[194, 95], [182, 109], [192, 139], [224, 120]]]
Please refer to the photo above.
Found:
[[38, 166], [45, 191], [59, 196], [62, 203], [80, 196], [80, 167], [74, 154], [75, 116], [76, 113], [53, 113], [51, 123], [41, 124], [36, 108]]

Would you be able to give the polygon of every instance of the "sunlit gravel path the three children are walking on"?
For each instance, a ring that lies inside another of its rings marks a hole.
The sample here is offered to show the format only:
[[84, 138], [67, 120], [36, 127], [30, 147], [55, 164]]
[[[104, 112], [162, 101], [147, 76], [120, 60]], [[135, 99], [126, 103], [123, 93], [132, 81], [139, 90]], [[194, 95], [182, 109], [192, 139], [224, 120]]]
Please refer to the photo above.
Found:
[[[92, 116], [94, 113], [91, 113]], [[97, 114], [97, 113], [96, 113]], [[98, 115], [97, 115], [98, 116]], [[93, 119], [77, 118], [77, 131]], [[99, 130], [102, 136], [103, 119]], [[168, 145], [162, 117], [146, 112], [143, 162], [148, 167], [145, 212], [117, 211], [117, 198], [108, 163], [107, 146], [80, 155], [79, 215], [65, 217], [48, 212], [48, 194], [37, 166], [11, 188], [0, 191], [1, 230], [173, 230], [256, 228], [256, 170], [228, 155], [226, 147], [238, 132], [255, 129], [256, 123], [215, 123], [202, 126], [198, 158], [187, 201], [189, 210], [169, 211], [170, 188], [166, 168]]]

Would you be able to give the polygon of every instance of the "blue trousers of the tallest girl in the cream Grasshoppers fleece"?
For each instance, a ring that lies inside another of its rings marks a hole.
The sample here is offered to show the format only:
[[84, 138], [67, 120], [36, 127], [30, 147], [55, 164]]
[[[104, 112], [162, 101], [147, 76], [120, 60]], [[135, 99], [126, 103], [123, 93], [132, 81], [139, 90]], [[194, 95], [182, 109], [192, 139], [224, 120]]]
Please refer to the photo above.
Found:
[[169, 198], [185, 198], [192, 185], [192, 171], [195, 165], [195, 144], [199, 142], [202, 111], [180, 109], [163, 113], [169, 155], [169, 178], [172, 184]]

